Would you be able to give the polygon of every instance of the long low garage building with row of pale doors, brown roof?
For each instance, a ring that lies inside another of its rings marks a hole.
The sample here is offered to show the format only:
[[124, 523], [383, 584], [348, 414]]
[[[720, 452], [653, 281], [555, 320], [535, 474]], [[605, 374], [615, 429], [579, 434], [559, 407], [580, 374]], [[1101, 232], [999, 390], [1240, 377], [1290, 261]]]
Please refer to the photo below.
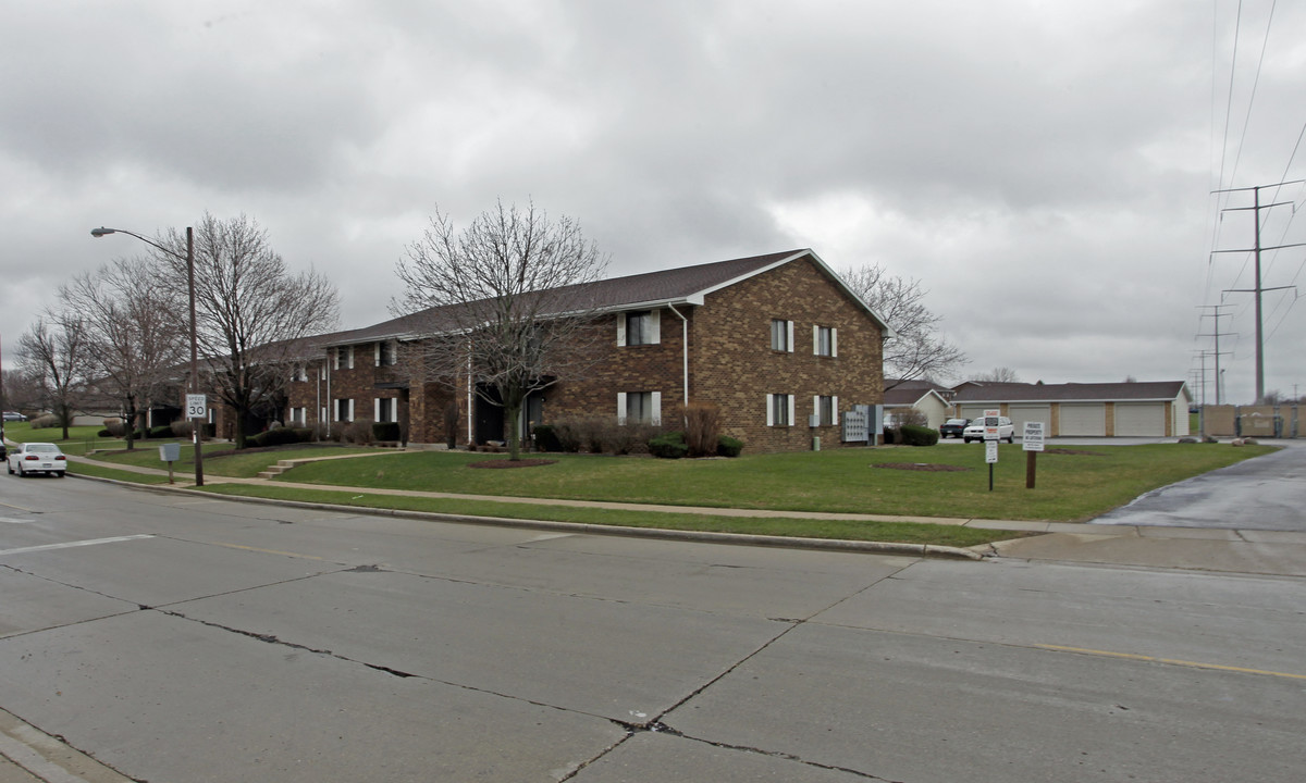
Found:
[[989, 384], [955, 388], [952, 410], [976, 419], [998, 408], [1016, 425], [1042, 422], [1049, 437], [1182, 437], [1192, 394], [1183, 381], [1123, 384]]

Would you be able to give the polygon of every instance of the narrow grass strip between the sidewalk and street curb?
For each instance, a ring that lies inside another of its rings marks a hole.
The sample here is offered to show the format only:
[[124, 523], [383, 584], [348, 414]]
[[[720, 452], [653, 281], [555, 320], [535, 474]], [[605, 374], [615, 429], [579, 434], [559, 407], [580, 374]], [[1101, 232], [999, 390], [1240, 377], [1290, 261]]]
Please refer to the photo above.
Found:
[[507, 519], [541, 519], [549, 522], [579, 522], [585, 525], [656, 527], [663, 530], [693, 530], [857, 542], [896, 542], [948, 547], [974, 547], [978, 544], [1025, 535], [1004, 530], [985, 530], [978, 527], [960, 527], [955, 525], [626, 512], [584, 506], [554, 506], [440, 497], [406, 497], [396, 495], [359, 495], [329, 489], [278, 487], [276, 484], [210, 484], [204, 487], [204, 491], [214, 495], [268, 497], [276, 500], [296, 500], [303, 502], [325, 502], [345, 506], [428, 512], [438, 514], [499, 517]]

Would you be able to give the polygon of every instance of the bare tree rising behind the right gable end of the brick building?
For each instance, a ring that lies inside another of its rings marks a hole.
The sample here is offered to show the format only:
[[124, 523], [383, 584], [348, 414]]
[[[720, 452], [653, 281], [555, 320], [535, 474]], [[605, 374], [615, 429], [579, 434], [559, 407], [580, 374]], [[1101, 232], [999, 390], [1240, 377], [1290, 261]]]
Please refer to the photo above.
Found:
[[884, 342], [885, 377], [897, 382], [952, 377], [966, 363], [961, 348], [939, 334], [942, 318], [925, 305], [929, 291], [921, 287], [921, 281], [891, 275], [879, 264], [849, 268], [841, 274], [844, 282], [895, 331]]

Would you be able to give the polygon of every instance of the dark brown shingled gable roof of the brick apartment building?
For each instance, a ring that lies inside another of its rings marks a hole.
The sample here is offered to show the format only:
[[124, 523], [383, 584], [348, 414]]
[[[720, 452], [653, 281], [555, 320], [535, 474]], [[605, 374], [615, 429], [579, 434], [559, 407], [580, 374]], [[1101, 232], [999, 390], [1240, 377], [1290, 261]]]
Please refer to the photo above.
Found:
[[[871, 308], [825, 265], [811, 249], [785, 251], [781, 253], [767, 253], [764, 256], [750, 256], [747, 258], [731, 258], [713, 264], [699, 264], [695, 266], [679, 266], [661, 271], [646, 271], [618, 278], [609, 278], [588, 284], [586, 295], [589, 307], [597, 311], [629, 311], [640, 308], [656, 308], [675, 304], [704, 303], [708, 294], [713, 294], [748, 278], [756, 277], [791, 261], [810, 258], [831, 282], [842, 290], [855, 301], [884, 331], [884, 337], [892, 337], [893, 331]], [[572, 290], [571, 286], [558, 288], [560, 292]], [[317, 346], [342, 346], [354, 343], [376, 342], [379, 339], [407, 339], [422, 333], [430, 333], [432, 324], [439, 324], [440, 308], [434, 308], [421, 313], [402, 316], [383, 321], [363, 329], [350, 331], [336, 331], [324, 334], [313, 342]], [[452, 326], [452, 324], [451, 324]]]

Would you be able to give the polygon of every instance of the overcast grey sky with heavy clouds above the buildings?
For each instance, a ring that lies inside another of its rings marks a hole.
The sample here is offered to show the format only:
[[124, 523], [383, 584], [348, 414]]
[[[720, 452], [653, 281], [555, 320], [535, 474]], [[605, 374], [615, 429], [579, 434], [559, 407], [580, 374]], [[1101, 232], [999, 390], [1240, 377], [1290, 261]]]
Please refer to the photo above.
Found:
[[[389, 317], [432, 210], [534, 200], [632, 274], [810, 247], [919, 279], [960, 378], [1190, 380], [1220, 304], [1254, 397], [1251, 194], [1306, 177], [1306, 7], [1273, 0], [10, 0], [0, 337], [205, 211]], [[1271, 17], [1272, 12], [1272, 17]], [[1258, 78], [1259, 73], [1259, 78]], [[1301, 184], [1262, 201], [1302, 205]], [[1306, 241], [1293, 206], [1263, 244]], [[1263, 256], [1299, 284], [1306, 248]], [[1267, 292], [1266, 388], [1306, 394]], [[1213, 358], [1207, 398], [1215, 401]]]

